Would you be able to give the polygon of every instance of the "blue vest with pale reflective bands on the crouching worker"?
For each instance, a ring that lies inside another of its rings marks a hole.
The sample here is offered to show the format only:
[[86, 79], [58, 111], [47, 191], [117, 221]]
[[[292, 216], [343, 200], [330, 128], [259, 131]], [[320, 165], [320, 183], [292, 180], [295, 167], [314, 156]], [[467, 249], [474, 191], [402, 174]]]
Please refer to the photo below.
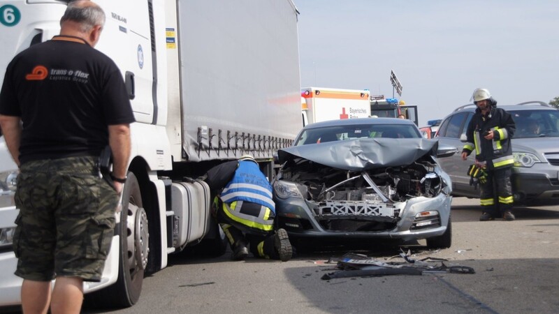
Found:
[[242, 200], [260, 204], [275, 213], [272, 186], [259, 166], [249, 160], [239, 161], [233, 179], [225, 186], [220, 197], [226, 203]]

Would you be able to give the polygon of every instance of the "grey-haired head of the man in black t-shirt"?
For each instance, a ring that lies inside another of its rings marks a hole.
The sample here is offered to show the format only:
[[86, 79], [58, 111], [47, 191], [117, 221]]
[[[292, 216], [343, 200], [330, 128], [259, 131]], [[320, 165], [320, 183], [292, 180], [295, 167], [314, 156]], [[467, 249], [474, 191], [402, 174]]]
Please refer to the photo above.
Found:
[[60, 34], [83, 38], [94, 46], [99, 40], [103, 24], [105, 13], [96, 3], [89, 0], [72, 1], [60, 19]]

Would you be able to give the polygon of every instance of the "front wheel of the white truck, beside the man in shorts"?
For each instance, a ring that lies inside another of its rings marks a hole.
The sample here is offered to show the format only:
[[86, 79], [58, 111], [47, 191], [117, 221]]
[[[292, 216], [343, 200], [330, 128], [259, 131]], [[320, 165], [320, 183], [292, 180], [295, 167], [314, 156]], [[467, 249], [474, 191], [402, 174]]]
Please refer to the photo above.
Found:
[[[87, 304], [101, 308], [126, 308], [140, 299], [147, 267], [149, 232], [147, 215], [136, 176], [129, 172], [122, 191], [122, 211], [116, 232], [120, 235], [117, 282], [86, 294]], [[114, 249], [114, 248], [113, 248]]]

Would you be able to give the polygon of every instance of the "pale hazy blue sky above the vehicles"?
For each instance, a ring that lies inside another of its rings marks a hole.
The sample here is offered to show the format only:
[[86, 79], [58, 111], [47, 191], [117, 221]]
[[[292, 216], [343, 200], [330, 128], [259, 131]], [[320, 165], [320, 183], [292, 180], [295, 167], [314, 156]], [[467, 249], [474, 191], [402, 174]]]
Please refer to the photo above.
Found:
[[484, 87], [501, 104], [559, 96], [559, 1], [293, 0], [302, 87], [393, 94], [419, 124]]

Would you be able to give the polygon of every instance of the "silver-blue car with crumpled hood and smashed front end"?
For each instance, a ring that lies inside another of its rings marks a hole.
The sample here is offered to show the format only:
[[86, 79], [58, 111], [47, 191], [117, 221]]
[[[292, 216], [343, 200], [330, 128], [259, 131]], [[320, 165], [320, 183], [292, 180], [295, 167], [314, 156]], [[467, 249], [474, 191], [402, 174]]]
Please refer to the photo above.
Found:
[[451, 246], [451, 182], [410, 120], [363, 118], [309, 124], [278, 151], [277, 223], [295, 246], [314, 239], [426, 239]]

